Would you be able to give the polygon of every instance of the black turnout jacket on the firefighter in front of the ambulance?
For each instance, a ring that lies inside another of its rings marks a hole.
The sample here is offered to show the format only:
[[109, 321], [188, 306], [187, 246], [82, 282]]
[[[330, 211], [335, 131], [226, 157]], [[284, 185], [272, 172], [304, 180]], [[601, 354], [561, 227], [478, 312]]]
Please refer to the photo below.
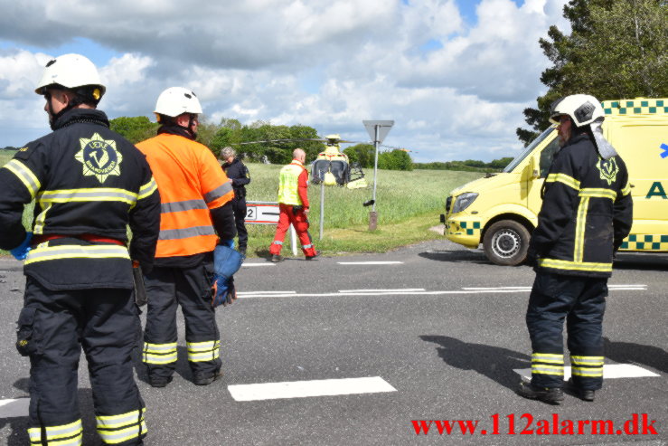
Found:
[[633, 202], [621, 157], [599, 157], [586, 132], [572, 136], [543, 185], [530, 256], [537, 271], [610, 277], [613, 254], [631, 230]]

